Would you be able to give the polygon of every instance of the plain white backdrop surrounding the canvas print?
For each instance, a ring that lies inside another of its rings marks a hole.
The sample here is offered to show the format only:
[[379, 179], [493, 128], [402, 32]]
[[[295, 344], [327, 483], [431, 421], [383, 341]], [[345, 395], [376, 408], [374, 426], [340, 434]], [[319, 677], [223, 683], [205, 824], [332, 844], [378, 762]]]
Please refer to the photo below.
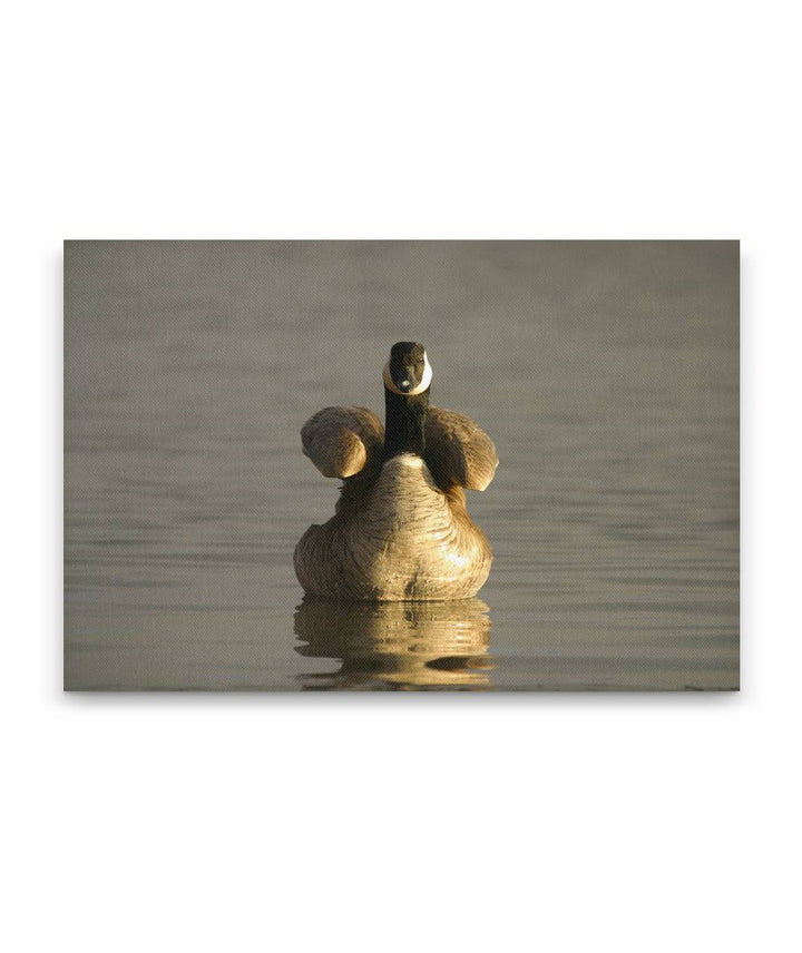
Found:
[[[4, 949], [799, 943], [792, 19], [7, 11]], [[62, 695], [65, 237], [741, 238], [741, 694]]]

